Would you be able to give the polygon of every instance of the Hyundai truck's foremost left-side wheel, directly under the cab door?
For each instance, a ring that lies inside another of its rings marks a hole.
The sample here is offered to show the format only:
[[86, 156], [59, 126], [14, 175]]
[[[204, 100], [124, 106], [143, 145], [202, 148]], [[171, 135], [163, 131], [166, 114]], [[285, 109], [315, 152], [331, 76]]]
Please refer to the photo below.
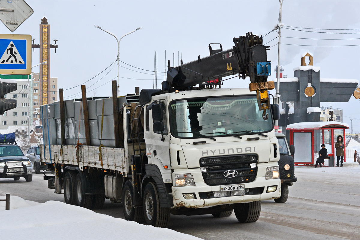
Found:
[[160, 207], [159, 194], [155, 184], [149, 182], [144, 191], [145, 222], [154, 227], [167, 227], [170, 222], [170, 208]]

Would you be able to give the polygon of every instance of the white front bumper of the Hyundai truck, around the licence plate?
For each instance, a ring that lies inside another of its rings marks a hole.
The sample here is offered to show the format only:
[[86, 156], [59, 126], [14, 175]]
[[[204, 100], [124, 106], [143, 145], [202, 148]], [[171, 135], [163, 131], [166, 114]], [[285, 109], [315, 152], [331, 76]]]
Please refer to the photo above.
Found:
[[[276, 186], [276, 190], [267, 193], [269, 186]], [[244, 183], [245, 190], [242, 192], [224, 192], [220, 191], [220, 186], [209, 186], [204, 182], [196, 182], [195, 186], [172, 187], [172, 196], [174, 207], [203, 208], [279, 198], [280, 186], [279, 178], [265, 180], [265, 177], [257, 177], [253, 182]], [[193, 194], [195, 199], [185, 199], [184, 194]]]

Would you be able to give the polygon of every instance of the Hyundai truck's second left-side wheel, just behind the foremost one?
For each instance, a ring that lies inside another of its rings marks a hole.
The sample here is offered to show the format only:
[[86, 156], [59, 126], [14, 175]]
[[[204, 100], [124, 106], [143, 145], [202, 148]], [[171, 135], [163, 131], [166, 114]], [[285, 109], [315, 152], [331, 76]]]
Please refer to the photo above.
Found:
[[134, 208], [132, 206], [132, 183], [130, 180], [125, 182], [124, 189], [122, 190], [122, 207], [124, 210], [125, 219], [127, 221], [135, 221], [141, 223], [144, 221], [144, 212], [140, 207]]

